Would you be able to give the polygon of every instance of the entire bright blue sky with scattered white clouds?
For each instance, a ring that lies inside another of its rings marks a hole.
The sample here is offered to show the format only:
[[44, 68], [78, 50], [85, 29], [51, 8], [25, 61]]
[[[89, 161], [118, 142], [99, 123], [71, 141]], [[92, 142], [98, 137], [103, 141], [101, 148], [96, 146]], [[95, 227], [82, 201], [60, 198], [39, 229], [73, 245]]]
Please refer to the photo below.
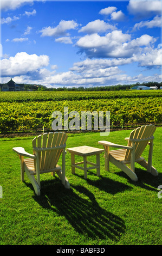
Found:
[[1, 0], [1, 83], [161, 82], [161, 1]]

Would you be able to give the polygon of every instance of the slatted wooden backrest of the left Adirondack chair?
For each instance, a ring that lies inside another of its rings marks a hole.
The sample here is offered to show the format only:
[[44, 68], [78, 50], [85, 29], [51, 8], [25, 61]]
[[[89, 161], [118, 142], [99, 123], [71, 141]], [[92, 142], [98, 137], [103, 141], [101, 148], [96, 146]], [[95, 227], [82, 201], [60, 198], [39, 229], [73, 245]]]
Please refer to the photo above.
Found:
[[38, 157], [40, 171], [56, 167], [62, 150], [66, 148], [67, 137], [63, 132], [49, 132], [33, 139], [33, 154]]

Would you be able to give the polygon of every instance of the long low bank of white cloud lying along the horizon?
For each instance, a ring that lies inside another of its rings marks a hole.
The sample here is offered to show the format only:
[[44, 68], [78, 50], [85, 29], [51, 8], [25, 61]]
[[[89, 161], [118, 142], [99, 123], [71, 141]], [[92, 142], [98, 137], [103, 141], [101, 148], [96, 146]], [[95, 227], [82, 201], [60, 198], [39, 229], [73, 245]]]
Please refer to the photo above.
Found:
[[[112, 71], [112, 72], [111, 72]], [[91, 86], [109, 86], [115, 84], [128, 84], [128, 83], [135, 83], [135, 82], [150, 82], [150, 81], [157, 81], [161, 82], [161, 75], [154, 74], [153, 76], [144, 76], [139, 74], [137, 76], [128, 76], [123, 74], [122, 71], [118, 68], [107, 70], [109, 76], [105, 77], [95, 77], [92, 74], [92, 77], [86, 78], [80, 75], [74, 75], [73, 72], [63, 72], [62, 74], [49, 74], [49, 71], [46, 69], [41, 70], [41, 74], [38, 80], [33, 79], [33, 77], [29, 76], [15, 76], [13, 80], [17, 83], [36, 83], [42, 84], [47, 87], [91, 87]], [[3, 78], [2, 83], [6, 83], [10, 80], [10, 76]]]

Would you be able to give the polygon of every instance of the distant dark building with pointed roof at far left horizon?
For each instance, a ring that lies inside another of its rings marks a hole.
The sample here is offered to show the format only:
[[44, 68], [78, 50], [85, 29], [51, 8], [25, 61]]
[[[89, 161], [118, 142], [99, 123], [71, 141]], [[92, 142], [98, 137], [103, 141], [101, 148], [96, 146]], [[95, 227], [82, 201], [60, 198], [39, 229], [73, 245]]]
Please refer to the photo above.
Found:
[[8, 83], [1, 83], [0, 88], [2, 92], [20, 92], [24, 91], [24, 84], [15, 83], [11, 78]]

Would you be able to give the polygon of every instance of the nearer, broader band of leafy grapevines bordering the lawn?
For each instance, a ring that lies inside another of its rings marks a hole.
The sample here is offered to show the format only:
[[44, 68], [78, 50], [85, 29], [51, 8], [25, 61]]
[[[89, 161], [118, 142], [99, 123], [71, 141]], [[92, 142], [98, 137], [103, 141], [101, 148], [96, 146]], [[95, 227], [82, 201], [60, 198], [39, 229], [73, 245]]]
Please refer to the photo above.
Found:
[[[66, 92], [67, 93], [67, 92]], [[68, 92], [69, 93], [69, 92]], [[96, 92], [93, 92], [96, 96]], [[113, 92], [114, 93], [114, 92]], [[116, 93], [116, 92], [115, 92]], [[32, 95], [32, 94], [31, 94]], [[43, 94], [44, 95], [44, 94]], [[146, 95], [146, 94], [145, 94]], [[68, 95], [69, 96], [69, 95]], [[0, 131], [36, 130], [38, 126], [51, 129], [54, 111], [110, 111], [111, 125], [162, 123], [162, 98], [157, 96], [121, 97], [114, 99], [48, 100], [0, 102]]]

